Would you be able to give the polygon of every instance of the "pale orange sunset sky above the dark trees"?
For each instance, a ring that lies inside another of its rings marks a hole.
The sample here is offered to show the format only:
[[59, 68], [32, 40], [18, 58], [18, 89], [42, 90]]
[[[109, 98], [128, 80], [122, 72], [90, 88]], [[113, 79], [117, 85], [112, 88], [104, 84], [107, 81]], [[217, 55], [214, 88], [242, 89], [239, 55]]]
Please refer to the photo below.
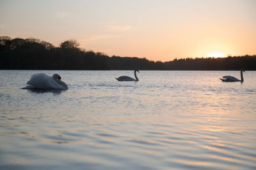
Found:
[[255, 0], [0, 0], [0, 36], [169, 61], [256, 54]]

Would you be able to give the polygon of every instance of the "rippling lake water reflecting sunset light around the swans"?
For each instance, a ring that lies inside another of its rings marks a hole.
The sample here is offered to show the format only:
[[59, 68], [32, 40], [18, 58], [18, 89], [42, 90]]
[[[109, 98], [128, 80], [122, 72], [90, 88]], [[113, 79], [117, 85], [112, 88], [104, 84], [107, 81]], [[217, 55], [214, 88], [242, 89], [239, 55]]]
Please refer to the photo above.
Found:
[[[68, 90], [24, 90], [32, 74]], [[256, 169], [256, 71], [0, 71], [0, 169]]]

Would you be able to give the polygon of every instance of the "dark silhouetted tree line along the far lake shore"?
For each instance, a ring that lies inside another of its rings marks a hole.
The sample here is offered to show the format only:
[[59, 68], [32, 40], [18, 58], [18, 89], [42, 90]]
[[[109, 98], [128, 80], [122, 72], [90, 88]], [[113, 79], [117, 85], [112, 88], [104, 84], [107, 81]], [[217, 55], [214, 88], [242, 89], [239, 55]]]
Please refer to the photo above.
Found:
[[86, 51], [76, 40], [67, 40], [56, 47], [35, 38], [0, 37], [0, 69], [63, 69], [63, 70], [256, 70], [256, 55], [224, 58], [186, 58], [168, 62], [138, 57], [119, 57]]

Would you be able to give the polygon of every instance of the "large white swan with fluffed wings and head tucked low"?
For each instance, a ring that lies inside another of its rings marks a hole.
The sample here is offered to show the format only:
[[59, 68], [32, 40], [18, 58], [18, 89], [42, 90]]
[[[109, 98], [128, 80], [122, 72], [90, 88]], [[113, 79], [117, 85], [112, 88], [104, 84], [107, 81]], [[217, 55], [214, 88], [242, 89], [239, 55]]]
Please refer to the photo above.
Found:
[[59, 74], [47, 76], [44, 73], [33, 74], [27, 82], [28, 86], [22, 89], [67, 90], [66, 83], [61, 81]]

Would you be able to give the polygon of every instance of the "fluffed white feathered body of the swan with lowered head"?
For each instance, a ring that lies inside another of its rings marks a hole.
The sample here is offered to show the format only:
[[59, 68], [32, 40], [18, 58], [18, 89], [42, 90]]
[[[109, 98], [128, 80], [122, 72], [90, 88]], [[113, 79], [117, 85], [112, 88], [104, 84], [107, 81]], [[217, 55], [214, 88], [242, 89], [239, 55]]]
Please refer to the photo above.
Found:
[[29, 86], [24, 89], [54, 89], [54, 90], [65, 90], [67, 88], [63, 87], [57, 83], [51, 76], [47, 76], [44, 73], [33, 74], [30, 80], [27, 82]]

